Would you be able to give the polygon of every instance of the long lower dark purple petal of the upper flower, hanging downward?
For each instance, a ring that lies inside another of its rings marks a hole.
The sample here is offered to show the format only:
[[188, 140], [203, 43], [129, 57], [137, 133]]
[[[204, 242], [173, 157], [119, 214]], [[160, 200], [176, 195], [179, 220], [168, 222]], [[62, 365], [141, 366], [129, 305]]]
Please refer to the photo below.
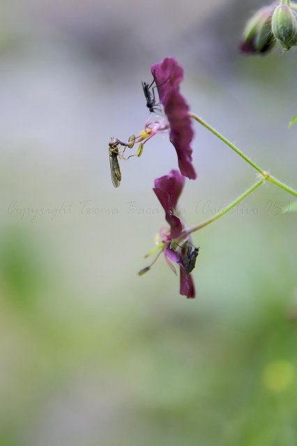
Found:
[[178, 90], [172, 90], [165, 105], [170, 126], [170, 141], [174, 145], [178, 157], [178, 167], [184, 176], [191, 180], [197, 178], [192, 166], [192, 148], [190, 143], [194, 137], [189, 106]]

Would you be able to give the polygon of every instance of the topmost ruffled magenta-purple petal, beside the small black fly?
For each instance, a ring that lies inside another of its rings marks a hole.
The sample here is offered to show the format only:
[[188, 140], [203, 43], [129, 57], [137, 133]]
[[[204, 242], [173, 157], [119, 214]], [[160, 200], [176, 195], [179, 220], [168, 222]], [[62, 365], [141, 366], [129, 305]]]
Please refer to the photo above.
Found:
[[165, 106], [169, 93], [172, 89], [178, 89], [183, 80], [183, 68], [173, 57], [166, 57], [164, 61], [151, 67], [151, 74], [155, 79], [160, 102]]

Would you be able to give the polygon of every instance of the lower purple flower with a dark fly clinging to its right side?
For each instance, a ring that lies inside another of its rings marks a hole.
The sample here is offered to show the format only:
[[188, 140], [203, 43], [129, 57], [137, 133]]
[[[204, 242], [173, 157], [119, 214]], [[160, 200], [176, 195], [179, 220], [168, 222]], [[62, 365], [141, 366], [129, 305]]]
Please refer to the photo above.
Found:
[[[162, 228], [160, 230], [160, 249], [162, 249], [160, 253], [163, 252], [165, 255], [165, 260], [170, 268], [174, 270], [174, 272], [176, 272], [176, 270], [172, 262], [177, 263], [180, 267], [181, 295], [186, 295], [187, 298], [195, 298], [194, 282], [187, 268], [188, 252], [183, 248], [183, 245], [189, 242], [189, 236], [184, 233], [183, 222], [176, 215], [178, 199], [181, 195], [184, 184], [185, 177], [178, 171], [172, 170], [168, 175], [162, 176], [155, 180], [153, 192], [155, 192], [162, 205], [162, 208], [164, 208], [165, 218], [170, 226], [170, 228]], [[181, 237], [183, 239], [183, 245], [179, 246], [176, 239]], [[153, 263], [155, 263], [155, 261], [153, 261]], [[144, 268], [140, 274], [144, 274], [144, 272], [147, 272], [149, 269], [150, 267]]]

